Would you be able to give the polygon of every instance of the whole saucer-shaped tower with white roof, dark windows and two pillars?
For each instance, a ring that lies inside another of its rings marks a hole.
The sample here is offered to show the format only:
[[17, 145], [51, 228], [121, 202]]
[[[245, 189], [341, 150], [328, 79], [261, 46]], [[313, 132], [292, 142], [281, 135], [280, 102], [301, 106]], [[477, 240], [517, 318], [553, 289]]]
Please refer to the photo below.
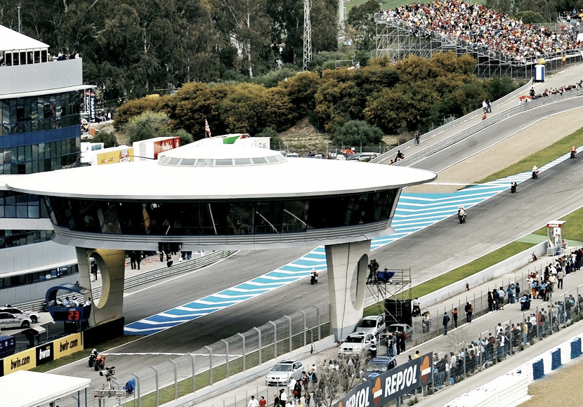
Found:
[[[402, 187], [436, 177], [414, 168], [193, 143], [157, 161], [20, 175], [6, 184], [44, 197], [55, 241], [77, 248], [82, 286], [90, 285], [87, 259], [98, 261], [104, 291], [94, 325], [123, 321], [126, 250], [156, 251], [159, 243], [182, 251], [325, 244], [332, 328], [343, 338], [362, 316], [370, 240], [391, 233]], [[359, 287], [350, 300], [345, 294], [355, 272]]]

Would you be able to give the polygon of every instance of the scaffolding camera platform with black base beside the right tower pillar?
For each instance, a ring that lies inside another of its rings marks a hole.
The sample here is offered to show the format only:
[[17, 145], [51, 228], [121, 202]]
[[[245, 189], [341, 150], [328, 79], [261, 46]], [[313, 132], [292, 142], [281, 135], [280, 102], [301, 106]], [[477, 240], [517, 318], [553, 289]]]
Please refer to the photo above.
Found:
[[[379, 312], [385, 315], [387, 323], [411, 319], [411, 267], [379, 270], [376, 276], [373, 272], [369, 272], [367, 288], [375, 302], [381, 307]], [[388, 307], [388, 304], [393, 301], [403, 306]], [[412, 324], [409, 323], [409, 325]]]

